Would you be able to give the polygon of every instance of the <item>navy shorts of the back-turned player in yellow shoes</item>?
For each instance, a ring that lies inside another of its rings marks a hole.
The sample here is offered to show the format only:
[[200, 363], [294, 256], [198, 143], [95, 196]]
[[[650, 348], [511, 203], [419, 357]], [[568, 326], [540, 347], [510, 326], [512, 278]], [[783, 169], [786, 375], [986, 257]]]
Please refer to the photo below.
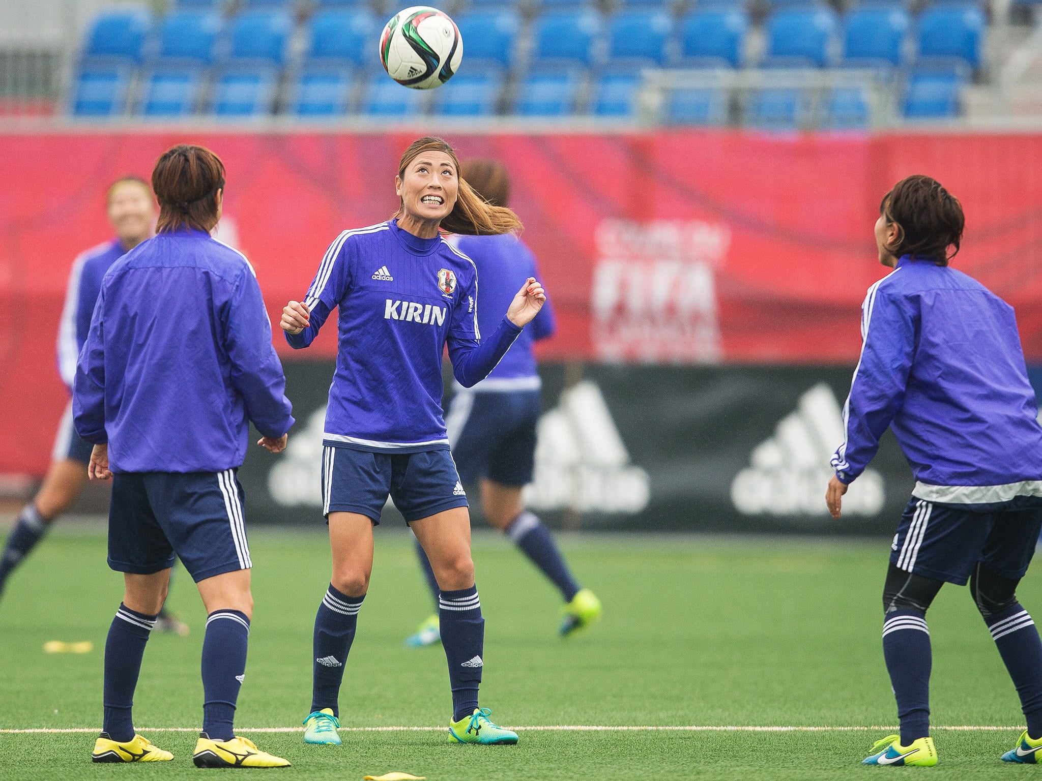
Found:
[[108, 565], [151, 575], [173, 566], [174, 554], [197, 583], [253, 565], [235, 470], [113, 476]]

